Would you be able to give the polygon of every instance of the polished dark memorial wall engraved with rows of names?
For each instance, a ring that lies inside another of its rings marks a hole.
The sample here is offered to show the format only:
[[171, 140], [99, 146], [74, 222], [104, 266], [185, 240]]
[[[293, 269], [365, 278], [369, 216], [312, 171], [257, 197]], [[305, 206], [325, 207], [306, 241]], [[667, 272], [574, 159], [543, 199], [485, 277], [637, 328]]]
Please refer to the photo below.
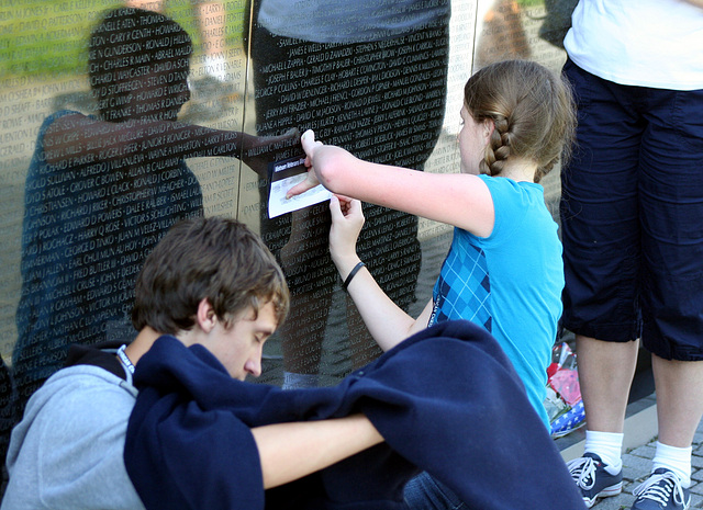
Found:
[[[114, 23], [101, 33], [102, 46], [91, 45], [91, 31], [114, 1], [0, 7], [0, 353], [37, 379], [60, 365], [68, 343], [130, 340], [131, 285], [141, 262], [168, 226], [194, 214], [239, 218], [287, 273], [292, 310], [266, 349], [261, 381], [282, 384], [286, 370], [332, 384], [377, 356], [328, 258], [326, 204], [269, 218], [270, 163], [300, 155], [291, 128], [313, 128], [365, 159], [458, 171], [468, 77], [505, 58], [560, 69], [576, 2], [152, 3], [190, 35], [188, 75], [178, 64], [187, 57], [183, 41], [176, 33], [164, 38], [153, 24]], [[98, 63], [108, 58], [110, 72], [100, 75]], [[42, 128], [65, 111], [82, 115]], [[147, 114], [170, 121], [176, 113], [212, 131], [104, 125]], [[88, 121], [96, 122], [92, 132]], [[224, 132], [283, 136], [261, 141]], [[558, 169], [543, 184], [556, 214]], [[416, 315], [431, 297], [450, 228], [365, 207], [359, 253], [389, 295]]]

